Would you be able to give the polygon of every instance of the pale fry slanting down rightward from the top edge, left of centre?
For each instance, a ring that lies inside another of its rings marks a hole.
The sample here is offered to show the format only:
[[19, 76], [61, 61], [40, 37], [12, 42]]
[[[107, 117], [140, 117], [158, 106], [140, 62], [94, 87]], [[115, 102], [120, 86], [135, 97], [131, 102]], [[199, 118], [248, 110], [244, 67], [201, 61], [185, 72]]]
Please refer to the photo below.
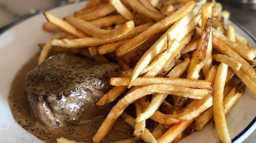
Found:
[[120, 13], [124, 18], [128, 20], [133, 20], [133, 14], [126, 8], [120, 0], [109, 0], [109, 2], [117, 9], [117, 12]]

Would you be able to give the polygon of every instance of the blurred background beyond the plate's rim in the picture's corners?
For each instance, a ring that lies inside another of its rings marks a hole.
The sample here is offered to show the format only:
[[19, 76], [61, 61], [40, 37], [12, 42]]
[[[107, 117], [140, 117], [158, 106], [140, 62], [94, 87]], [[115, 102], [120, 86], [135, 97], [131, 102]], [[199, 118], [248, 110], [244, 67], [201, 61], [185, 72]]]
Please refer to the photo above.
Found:
[[[0, 34], [28, 17], [54, 7], [81, 0], [0, 0]], [[241, 24], [256, 36], [256, 0], [217, 0], [223, 9], [230, 11], [230, 20]], [[243, 143], [256, 141], [254, 131]]]

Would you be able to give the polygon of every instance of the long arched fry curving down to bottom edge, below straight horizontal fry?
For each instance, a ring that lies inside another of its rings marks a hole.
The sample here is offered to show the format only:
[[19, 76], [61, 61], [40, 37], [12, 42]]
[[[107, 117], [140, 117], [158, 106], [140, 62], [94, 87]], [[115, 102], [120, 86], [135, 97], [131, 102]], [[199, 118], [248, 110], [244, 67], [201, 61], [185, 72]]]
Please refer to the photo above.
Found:
[[209, 91], [206, 89], [193, 89], [188, 87], [177, 87], [172, 85], [156, 84], [141, 87], [126, 94], [118, 103], [111, 109], [106, 119], [99, 127], [96, 134], [93, 136], [94, 142], [102, 141], [112, 128], [114, 122], [122, 114], [124, 109], [134, 101], [141, 97], [154, 93], [172, 94], [177, 96], [184, 96], [193, 99], [202, 99]]

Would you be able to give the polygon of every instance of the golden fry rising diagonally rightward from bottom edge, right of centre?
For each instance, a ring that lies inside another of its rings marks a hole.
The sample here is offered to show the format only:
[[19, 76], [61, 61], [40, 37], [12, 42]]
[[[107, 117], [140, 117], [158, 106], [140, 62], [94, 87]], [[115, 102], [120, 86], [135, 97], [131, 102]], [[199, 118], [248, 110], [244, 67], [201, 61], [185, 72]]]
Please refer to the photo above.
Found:
[[170, 127], [159, 139], [158, 143], [170, 143], [192, 123], [193, 120], [180, 122]]

